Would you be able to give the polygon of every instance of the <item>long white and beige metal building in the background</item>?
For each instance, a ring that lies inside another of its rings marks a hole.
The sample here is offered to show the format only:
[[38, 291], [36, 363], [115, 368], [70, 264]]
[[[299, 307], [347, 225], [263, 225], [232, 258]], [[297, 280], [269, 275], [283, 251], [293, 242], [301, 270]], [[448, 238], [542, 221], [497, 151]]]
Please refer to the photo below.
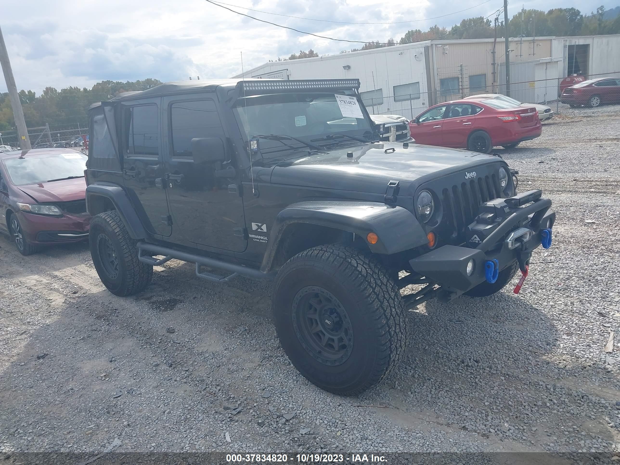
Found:
[[[573, 73], [620, 76], [620, 35], [510, 38], [510, 95], [557, 99]], [[371, 113], [415, 117], [429, 105], [480, 92], [505, 93], [504, 40], [430, 40], [302, 60], [272, 61], [235, 78], [360, 79]], [[615, 53], [614, 53], [615, 51]]]

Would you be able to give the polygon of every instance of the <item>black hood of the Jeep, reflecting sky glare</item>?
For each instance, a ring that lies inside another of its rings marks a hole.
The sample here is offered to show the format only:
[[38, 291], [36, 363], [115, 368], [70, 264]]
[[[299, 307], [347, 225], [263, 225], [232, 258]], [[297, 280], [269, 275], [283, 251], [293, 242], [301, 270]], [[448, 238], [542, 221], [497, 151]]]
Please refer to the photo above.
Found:
[[[347, 152], [353, 157], [347, 157]], [[387, 153], [386, 153], [387, 152]], [[387, 182], [401, 182], [401, 195], [413, 196], [418, 185], [455, 171], [503, 163], [492, 155], [410, 143], [371, 143], [281, 161], [272, 171], [274, 184], [384, 194]]]

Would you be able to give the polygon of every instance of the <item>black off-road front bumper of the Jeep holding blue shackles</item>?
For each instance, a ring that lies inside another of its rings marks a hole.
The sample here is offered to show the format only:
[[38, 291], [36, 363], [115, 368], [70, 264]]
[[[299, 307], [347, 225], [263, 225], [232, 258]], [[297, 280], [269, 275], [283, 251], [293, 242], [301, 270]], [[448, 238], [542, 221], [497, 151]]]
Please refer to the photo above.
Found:
[[[551, 229], [556, 213], [550, 210], [551, 200], [541, 198], [531, 205], [522, 206], [503, 221], [476, 249], [446, 245], [409, 260], [415, 273], [435, 281], [441, 286], [438, 298], [448, 301], [484, 282], [485, 263], [497, 260], [501, 271], [515, 260], [523, 268], [534, 249], [541, 245], [543, 229]], [[532, 231], [528, 241], [510, 249], [507, 236], [516, 228], [525, 227]], [[467, 275], [467, 263], [473, 260], [474, 269]]]

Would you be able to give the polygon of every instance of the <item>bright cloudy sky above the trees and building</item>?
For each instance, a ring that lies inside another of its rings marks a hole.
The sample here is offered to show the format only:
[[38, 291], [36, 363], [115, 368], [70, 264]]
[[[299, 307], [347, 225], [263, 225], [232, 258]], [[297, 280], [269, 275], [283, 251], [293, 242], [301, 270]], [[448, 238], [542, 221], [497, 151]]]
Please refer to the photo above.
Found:
[[[293, 19], [233, 8], [260, 19], [320, 35], [348, 40], [398, 40], [409, 29], [433, 24], [450, 27], [466, 17], [490, 15], [502, 0], [226, 0], [226, 3], [299, 17], [342, 22], [405, 24], [334, 24]], [[599, 2], [600, 3], [600, 2]], [[597, 5], [599, 4], [597, 3]], [[511, 14], [528, 0], [510, 6]], [[606, 8], [620, 0], [604, 2]], [[147, 7], [148, 6], [148, 7]], [[449, 13], [472, 7], [444, 17]], [[544, 9], [576, 7], [584, 14], [591, 1], [547, 0]], [[439, 17], [432, 20], [427, 18]], [[278, 56], [313, 48], [320, 55], [355, 44], [332, 42], [263, 24], [226, 11], [205, 0], [2, 0], [0, 27], [11, 56], [17, 87], [40, 93], [44, 87], [90, 87], [105, 79], [161, 81], [189, 76], [228, 78], [244, 68]], [[0, 78], [0, 92], [6, 92]]]

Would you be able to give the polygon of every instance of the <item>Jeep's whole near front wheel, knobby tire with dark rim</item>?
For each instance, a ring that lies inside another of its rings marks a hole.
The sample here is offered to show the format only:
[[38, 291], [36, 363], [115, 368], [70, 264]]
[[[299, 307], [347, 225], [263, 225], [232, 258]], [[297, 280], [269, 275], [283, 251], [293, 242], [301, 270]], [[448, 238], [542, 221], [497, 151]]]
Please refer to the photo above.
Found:
[[376, 386], [407, 347], [407, 311], [396, 283], [352, 247], [313, 247], [288, 260], [273, 286], [273, 320], [295, 368], [342, 396]]

